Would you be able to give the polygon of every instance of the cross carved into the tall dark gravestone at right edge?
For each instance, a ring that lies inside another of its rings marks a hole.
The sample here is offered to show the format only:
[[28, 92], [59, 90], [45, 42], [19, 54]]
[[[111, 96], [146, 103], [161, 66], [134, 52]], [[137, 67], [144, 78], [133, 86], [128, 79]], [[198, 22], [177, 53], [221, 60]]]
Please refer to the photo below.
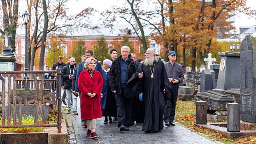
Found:
[[244, 51], [241, 51], [241, 62], [244, 62], [244, 86], [248, 88], [248, 65], [247, 62], [251, 60], [251, 50], [248, 51], [248, 41], [244, 42]]

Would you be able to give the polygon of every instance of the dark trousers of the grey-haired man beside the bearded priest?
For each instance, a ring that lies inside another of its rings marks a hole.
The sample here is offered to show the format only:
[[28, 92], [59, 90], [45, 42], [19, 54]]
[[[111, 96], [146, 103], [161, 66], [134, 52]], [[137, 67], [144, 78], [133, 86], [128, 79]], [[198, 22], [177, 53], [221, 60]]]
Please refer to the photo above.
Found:
[[130, 125], [131, 118], [130, 114], [130, 101], [131, 98], [124, 97], [124, 89], [121, 88], [121, 95], [115, 94], [116, 98], [116, 107], [117, 107], [117, 119], [118, 119], [118, 127], [121, 124]]

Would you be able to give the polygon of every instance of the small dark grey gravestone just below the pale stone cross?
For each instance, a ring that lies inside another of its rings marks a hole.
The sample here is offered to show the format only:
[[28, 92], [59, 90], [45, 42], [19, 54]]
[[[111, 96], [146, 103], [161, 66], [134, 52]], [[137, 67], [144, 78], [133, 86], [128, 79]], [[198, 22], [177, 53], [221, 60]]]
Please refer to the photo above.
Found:
[[216, 88], [213, 70], [203, 70], [200, 77], [200, 92]]

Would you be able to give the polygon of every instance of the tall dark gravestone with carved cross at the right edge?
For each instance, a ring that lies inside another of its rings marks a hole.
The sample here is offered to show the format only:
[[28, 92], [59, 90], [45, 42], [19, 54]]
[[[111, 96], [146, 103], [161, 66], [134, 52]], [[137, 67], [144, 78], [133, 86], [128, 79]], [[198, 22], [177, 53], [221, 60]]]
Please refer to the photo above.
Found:
[[[241, 44], [241, 104], [242, 121], [256, 123], [256, 39], [247, 35]], [[254, 62], [255, 61], [255, 62]]]

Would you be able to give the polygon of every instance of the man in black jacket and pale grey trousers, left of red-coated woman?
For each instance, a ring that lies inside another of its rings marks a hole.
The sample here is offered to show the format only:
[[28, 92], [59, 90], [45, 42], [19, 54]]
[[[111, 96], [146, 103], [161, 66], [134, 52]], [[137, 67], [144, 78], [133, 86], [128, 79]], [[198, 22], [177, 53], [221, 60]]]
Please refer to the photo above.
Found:
[[77, 97], [72, 93], [72, 77], [75, 70], [76, 60], [74, 58], [70, 58], [69, 63], [63, 67], [61, 72], [61, 78], [65, 80], [64, 89], [66, 90], [66, 102], [67, 102], [67, 114], [70, 114], [71, 111], [71, 97], [72, 97], [72, 114], [78, 115], [77, 113]]

